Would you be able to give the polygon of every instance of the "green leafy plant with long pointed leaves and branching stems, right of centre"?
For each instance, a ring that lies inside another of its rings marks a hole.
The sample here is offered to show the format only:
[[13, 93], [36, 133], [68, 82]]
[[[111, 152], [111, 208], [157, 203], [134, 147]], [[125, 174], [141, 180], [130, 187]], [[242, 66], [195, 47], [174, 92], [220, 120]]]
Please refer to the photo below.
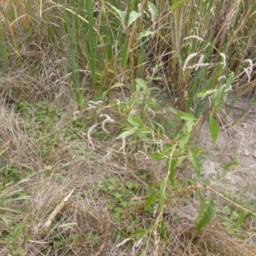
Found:
[[[213, 92], [213, 97], [209, 104], [211, 107], [211, 112], [208, 112], [210, 117], [209, 119], [209, 127], [212, 136], [212, 141], [215, 142], [218, 137], [218, 125], [214, 119], [214, 114], [218, 113], [218, 109], [221, 106], [221, 102], [226, 97], [227, 90], [230, 87], [231, 79], [233, 78], [232, 73], [228, 78], [226, 84], [220, 87], [218, 90], [211, 91]], [[140, 112], [134, 114], [133, 117], [127, 119], [128, 123], [131, 125], [131, 128], [128, 131], [124, 131], [122, 134], [117, 137], [117, 139], [123, 139], [123, 142], [128, 137], [133, 137], [133, 140], [137, 141], [139, 139], [143, 139], [143, 142], [148, 142], [148, 137], [151, 137], [153, 143], [160, 144], [160, 148], [150, 146], [151, 152], [145, 153], [144, 155], [148, 155], [150, 158], [154, 160], [165, 160], [166, 161], [166, 176], [160, 180], [158, 183], [154, 183], [152, 192], [149, 193], [148, 199], [145, 202], [145, 208], [151, 207], [154, 203], [157, 203], [157, 216], [155, 217], [155, 222], [151, 228], [148, 230], [137, 230], [131, 234], [131, 238], [133, 237], [143, 237], [146, 234], [160, 234], [161, 238], [164, 241], [167, 241], [166, 238], [166, 231], [165, 231], [165, 222], [163, 219], [163, 212], [165, 210], [166, 205], [170, 203], [172, 198], [178, 194], [187, 194], [189, 191], [195, 191], [195, 195], [198, 196], [200, 200], [200, 208], [198, 216], [193, 218], [194, 221], [197, 222], [195, 224], [195, 230], [201, 230], [204, 228], [209, 221], [212, 219], [214, 213], [216, 212], [216, 207], [214, 205], [212, 199], [212, 192], [216, 193], [217, 195], [221, 195], [218, 193], [217, 190], [213, 189], [212, 184], [208, 184], [207, 186], [201, 186], [197, 184], [197, 180], [201, 175], [201, 167], [200, 162], [198, 160], [197, 154], [201, 152], [201, 149], [194, 148], [190, 149], [189, 142], [190, 137], [195, 132], [196, 126], [200, 119], [196, 119], [195, 116], [191, 115], [190, 113], [183, 113], [178, 112], [174, 108], [170, 108], [172, 113], [174, 113], [177, 118], [183, 120], [183, 129], [180, 134], [177, 135], [174, 139], [170, 139], [166, 136], [165, 130], [162, 128], [156, 132], [154, 130], [154, 119], [147, 114], [149, 106], [150, 111], [154, 112], [157, 109], [157, 104], [155, 101], [152, 101], [150, 95], [150, 90], [148, 90], [147, 84], [143, 82], [141, 79], [137, 79], [137, 97], [135, 97], [134, 102], [136, 102], [136, 106], [139, 106]], [[143, 91], [143, 94], [141, 94]], [[205, 92], [207, 94], [207, 91]], [[145, 102], [148, 104], [144, 104], [144, 99], [146, 98]], [[154, 115], [153, 115], [154, 117]], [[152, 121], [150, 121], [152, 120]], [[129, 127], [129, 126], [128, 126]], [[153, 149], [153, 150], [152, 150]], [[189, 186], [181, 187], [183, 183], [181, 181], [177, 181], [175, 172], [178, 167], [180, 167], [184, 160], [188, 159], [190, 161], [191, 166], [195, 169], [196, 177], [194, 179], [187, 179], [190, 183]], [[235, 163], [236, 164], [236, 163]], [[233, 166], [234, 162], [229, 163], [227, 166], [224, 167], [224, 170]], [[223, 179], [223, 178], [221, 178]], [[220, 179], [220, 180], [221, 180]], [[219, 181], [220, 181], [219, 180]], [[218, 182], [219, 182], [218, 181]], [[217, 182], [217, 183], [218, 183]], [[171, 188], [170, 188], [171, 186]], [[169, 190], [171, 189], [171, 192]], [[206, 201], [205, 197], [201, 194], [202, 189], [209, 190], [208, 199]], [[238, 217], [236, 224], [234, 224], [230, 229], [237, 227], [241, 224], [243, 220], [243, 211], [250, 212], [244, 207], [237, 205], [235, 202], [230, 201], [224, 195], [221, 195], [224, 200], [231, 202], [234, 206], [241, 209], [241, 216]], [[224, 208], [225, 209], [225, 208]], [[154, 239], [157, 239], [158, 236], [155, 236]]]

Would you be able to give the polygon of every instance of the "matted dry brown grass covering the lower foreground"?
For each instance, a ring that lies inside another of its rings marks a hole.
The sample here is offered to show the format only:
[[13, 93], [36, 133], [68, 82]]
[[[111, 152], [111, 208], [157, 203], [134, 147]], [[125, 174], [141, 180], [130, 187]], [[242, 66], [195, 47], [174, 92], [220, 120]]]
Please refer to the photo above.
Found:
[[[129, 234], [134, 229], [148, 229], [154, 222], [153, 216], [146, 214], [141, 201], [137, 207], [124, 208], [120, 223], [115, 223], [113, 212], [107, 207], [109, 199], [114, 201], [113, 195], [96, 188], [99, 182], [114, 177], [118, 187], [126, 181], [139, 183], [141, 195], [144, 195], [145, 183], [135, 175], [136, 171], [125, 167], [120, 161], [103, 160], [107, 153], [106, 144], [95, 137], [94, 142], [101, 147], [97, 152], [84, 147], [86, 140], [76, 140], [63, 146], [65, 150], [60, 152], [61, 158], [51, 158], [45, 163], [37, 144], [32, 141], [32, 134], [28, 136], [22, 131], [20, 124], [20, 115], [9, 111], [2, 103], [1, 157], [20, 171], [20, 181], [1, 185], [0, 248], [12, 255], [27, 256], [133, 255], [131, 242], [117, 247], [122, 238], [114, 235], [115, 232], [122, 230], [124, 234]], [[46, 165], [48, 167], [44, 169]], [[2, 163], [2, 170], [3, 166]], [[139, 166], [145, 167], [145, 160], [142, 163], [138, 161]], [[22, 168], [26, 168], [24, 172], [21, 172]], [[160, 179], [162, 166], [156, 168], [154, 163], [149, 163], [147, 168], [143, 172], [154, 172], [150, 176], [151, 182]], [[32, 170], [34, 174], [29, 174]], [[73, 193], [68, 201], [58, 208], [71, 191]], [[229, 236], [218, 218], [214, 218], [206, 229], [195, 231], [189, 218], [196, 215], [197, 204], [167, 206], [163, 219], [168, 244], [162, 240], [154, 244], [153, 234], [148, 234], [134, 249], [135, 252], [140, 250], [145, 256], [153, 256], [156, 252], [157, 255], [255, 255], [253, 233], [237, 230], [236, 237]], [[52, 212], [55, 215], [49, 219]], [[140, 224], [132, 224], [133, 218], [139, 219]], [[47, 221], [49, 225], [45, 226]], [[96, 236], [96, 242], [93, 236], [90, 238], [85, 234]]]

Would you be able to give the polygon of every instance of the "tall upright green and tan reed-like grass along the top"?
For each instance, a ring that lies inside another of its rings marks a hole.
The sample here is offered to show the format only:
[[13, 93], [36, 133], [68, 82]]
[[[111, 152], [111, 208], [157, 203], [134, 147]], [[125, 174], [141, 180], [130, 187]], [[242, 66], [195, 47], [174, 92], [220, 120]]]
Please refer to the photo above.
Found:
[[[62, 73], [70, 74], [65, 79], [76, 102], [90, 85], [100, 96], [115, 82], [132, 91], [134, 79], [148, 76], [162, 78], [158, 86], [168, 88], [180, 108], [196, 103], [198, 112], [207, 107], [196, 95], [218, 87], [218, 78], [231, 71], [237, 92], [253, 88], [253, 73], [251, 84], [241, 73], [244, 60], [255, 60], [255, 12], [253, 0], [10, 1], [1, 11], [0, 61], [14, 69], [34, 61], [31, 49], [50, 48]], [[193, 53], [188, 64], [194, 68], [183, 69]], [[226, 55], [225, 67], [220, 53]], [[209, 65], [196, 68], [200, 57]]]

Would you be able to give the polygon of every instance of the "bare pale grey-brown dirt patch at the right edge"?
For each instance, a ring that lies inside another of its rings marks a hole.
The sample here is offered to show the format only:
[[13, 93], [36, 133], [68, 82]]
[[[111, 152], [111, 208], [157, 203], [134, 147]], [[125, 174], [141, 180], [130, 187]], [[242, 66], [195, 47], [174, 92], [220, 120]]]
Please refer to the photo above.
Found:
[[[256, 199], [256, 107], [254, 106], [234, 126], [232, 124], [246, 108], [248, 100], [242, 98], [230, 110], [226, 123], [220, 121], [218, 140], [212, 143], [207, 123], [201, 128], [199, 147], [211, 156], [201, 161], [201, 172], [210, 181], [218, 181], [218, 189], [242, 200]], [[224, 171], [224, 166], [237, 162]]]

